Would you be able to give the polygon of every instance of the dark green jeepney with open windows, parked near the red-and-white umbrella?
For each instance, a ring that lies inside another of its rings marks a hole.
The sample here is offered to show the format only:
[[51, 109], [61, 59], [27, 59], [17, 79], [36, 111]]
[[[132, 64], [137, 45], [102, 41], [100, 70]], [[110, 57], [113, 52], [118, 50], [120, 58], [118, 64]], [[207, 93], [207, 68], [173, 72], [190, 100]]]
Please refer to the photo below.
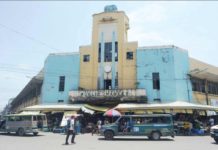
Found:
[[114, 136], [147, 136], [152, 140], [174, 137], [173, 118], [170, 114], [123, 115], [114, 123], [103, 125], [100, 134], [106, 140]]

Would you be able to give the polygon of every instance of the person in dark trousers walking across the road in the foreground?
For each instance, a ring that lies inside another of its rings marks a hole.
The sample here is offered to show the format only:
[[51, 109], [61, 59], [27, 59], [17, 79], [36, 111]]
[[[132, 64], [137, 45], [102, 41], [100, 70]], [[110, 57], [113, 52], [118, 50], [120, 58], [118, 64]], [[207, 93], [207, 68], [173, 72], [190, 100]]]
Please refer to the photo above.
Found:
[[66, 142], [65, 144], [68, 145], [68, 139], [69, 139], [69, 136], [72, 135], [72, 138], [71, 138], [71, 143], [75, 144], [75, 130], [74, 130], [74, 122], [75, 122], [75, 117], [74, 116], [71, 116], [68, 120], [67, 120], [67, 136], [66, 136]]

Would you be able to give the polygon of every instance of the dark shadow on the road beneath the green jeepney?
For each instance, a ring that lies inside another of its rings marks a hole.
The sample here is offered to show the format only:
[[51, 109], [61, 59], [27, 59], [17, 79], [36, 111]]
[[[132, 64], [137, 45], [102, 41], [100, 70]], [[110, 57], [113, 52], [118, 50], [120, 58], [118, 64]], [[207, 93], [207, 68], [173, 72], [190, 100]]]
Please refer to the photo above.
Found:
[[160, 140], [149, 140], [148, 138], [114, 138], [113, 140], [105, 140], [105, 138], [98, 138], [98, 140], [101, 141], [174, 141], [174, 139], [168, 139], [168, 138], [161, 138]]

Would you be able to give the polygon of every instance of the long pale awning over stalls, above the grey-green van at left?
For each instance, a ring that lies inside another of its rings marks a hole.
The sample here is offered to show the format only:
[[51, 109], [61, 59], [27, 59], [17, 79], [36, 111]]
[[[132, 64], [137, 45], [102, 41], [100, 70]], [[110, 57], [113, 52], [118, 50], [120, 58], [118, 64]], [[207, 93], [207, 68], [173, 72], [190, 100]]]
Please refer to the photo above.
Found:
[[61, 105], [34, 105], [23, 109], [23, 111], [43, 111], [43, 112], [54, 112], [54, 111], [78, 111], [83, 105], [81, 104], [61, 104]]

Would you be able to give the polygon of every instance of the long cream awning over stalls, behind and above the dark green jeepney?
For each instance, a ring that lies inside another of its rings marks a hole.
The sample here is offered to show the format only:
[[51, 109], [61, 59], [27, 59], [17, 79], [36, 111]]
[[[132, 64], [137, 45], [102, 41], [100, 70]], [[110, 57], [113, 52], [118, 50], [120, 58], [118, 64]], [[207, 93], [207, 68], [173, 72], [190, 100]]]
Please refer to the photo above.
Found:
[[118, 110], [154, 110], [154, 109], [168, 109], [168, 110], [210, 110], [215, 111], [217, 107], [200, 105], [194, 103], [188, 103], [183, 101], [176, 101], [172, 103], [162, 103], [162, 104], [118, 104], [115, 109]]

